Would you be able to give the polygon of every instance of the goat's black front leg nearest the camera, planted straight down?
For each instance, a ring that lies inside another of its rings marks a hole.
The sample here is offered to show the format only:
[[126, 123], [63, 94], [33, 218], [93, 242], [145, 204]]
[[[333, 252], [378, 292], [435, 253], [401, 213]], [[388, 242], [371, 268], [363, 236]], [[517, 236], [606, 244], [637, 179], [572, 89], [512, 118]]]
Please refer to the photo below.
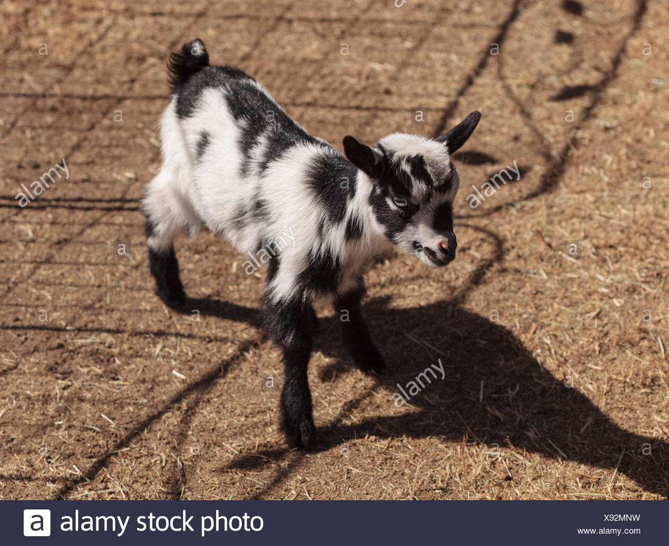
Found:
[[290, 448], [310, 449], [316, 438], [306, 376], [312, 346], [312, 315], [312, 306], [302, 297], [287, 302], [265, 298], [266, 328], [283, 351], [280, 426]]

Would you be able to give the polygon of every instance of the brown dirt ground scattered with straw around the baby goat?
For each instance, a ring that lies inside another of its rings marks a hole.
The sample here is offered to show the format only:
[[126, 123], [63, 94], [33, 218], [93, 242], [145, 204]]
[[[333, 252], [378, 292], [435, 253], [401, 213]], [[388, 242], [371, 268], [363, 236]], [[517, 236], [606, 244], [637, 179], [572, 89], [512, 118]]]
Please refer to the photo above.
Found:
[[[666, 3], [1, 9], [0, 498], [668, 496]], [[154, 294], [138, 199], [159, 168], [165, 61], [195, 37], [339, 149], [483, 114], [456, 156], [458, 258], [369, 272], [389, 376], [354, 369], [318, 308], [313, 452], [278, 432], [264, 273], [203, 233], [176, 246], [193, 312]], [[63, 159], [68, 177], [20, 207], [21, 184]], [[472, 209], [472, 185], [514, 161], [520, 179]], [[444, 379], [395, 407], [438, 359]]]

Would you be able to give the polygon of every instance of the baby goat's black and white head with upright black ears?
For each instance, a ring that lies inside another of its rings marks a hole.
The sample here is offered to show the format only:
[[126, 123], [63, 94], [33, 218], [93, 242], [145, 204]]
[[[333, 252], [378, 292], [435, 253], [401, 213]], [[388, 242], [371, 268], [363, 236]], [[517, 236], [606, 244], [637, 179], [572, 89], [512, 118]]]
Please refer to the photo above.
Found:
[[385, 236], [430, 267], [456, 256], [453, 201], [460, 177], [450, 155], [472, 134], [480, 112], [472, 112], [438, 139], [393, 133], [374, 147], [345, 137], [346, 157], [369, 177], [369, 203]]

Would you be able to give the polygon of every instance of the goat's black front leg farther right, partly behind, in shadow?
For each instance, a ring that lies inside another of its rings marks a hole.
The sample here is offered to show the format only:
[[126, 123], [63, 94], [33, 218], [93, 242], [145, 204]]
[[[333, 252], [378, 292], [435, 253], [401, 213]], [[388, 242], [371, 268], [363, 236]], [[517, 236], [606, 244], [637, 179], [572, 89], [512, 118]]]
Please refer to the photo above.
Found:
[[385, 370], [385, 362], [369, 336], [360, 309], [364, 295], [365, 286], [361, 284], [353, 292], [335, 299], [334, 308], [341, 321], [344, 345], [357, 367], [365, 373], [381, 373]]

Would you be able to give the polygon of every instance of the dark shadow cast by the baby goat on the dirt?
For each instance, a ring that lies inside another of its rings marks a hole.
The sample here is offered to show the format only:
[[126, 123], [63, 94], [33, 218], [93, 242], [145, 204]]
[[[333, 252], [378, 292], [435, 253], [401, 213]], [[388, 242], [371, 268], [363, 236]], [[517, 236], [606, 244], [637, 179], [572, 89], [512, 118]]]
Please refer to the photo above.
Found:
[[[209, 299], [191, 302], [207, 314], [259, 323], [258, 312], [250, 308]], [[423, 380], [424, 389], [409, 400], [418, 411], [395, 409], [389, 394], [389, 413], [397, 411], [397, 416], [317, 427], [316, 451], [365, 434], [383, 438], [438, 434], [452, 442], [462, 442], [467, 435], [469, 441], [498, 444], [502, 453], [513, 446], [545, 457], [617, 468], [645, 490], [668, 495], [669, 444], [612, 422], [579, 391], [577, 381], [570, 388], [568, 378], [555, 379], [504, 326], [448, 301], [401, 309], [390, 308], [387, 298], [374, 298], [365, 303], [363, 312], [388, 367], [387, 375], [375, 380], [389, 393], [399, 390], [397, 383], [408, 392], [407, 382], [430, 365], [438, 366], [438, 359], [446, 376], [441, 379], [437, 371], [431, 383]], [[339, 327], [337, 316], [320, 318], [314, 351], [336, 359], [320, 371], [323, 381], [359, 373], [350, 369], [353, 363], [341, 345]], [[440, 352], [421, 347], [416, 337]], [[314, 406], [318, 407], [318, 397]], [[226, 468], [261, 466], [268, 464], [266, 458], [276, 460], [286, 454], [287, 448], [242, 455]]]

